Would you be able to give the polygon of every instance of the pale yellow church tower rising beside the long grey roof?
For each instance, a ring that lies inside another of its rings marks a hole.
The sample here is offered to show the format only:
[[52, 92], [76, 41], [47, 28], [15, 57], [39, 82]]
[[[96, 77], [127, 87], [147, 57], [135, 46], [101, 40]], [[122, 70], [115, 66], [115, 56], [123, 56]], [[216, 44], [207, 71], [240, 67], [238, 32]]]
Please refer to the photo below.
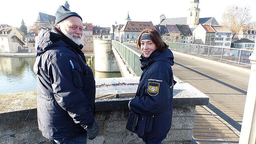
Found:
[[191, 0], [187, 14], [187, 24], [190, 28], [196, 28], [199, 23], [199, 0]]

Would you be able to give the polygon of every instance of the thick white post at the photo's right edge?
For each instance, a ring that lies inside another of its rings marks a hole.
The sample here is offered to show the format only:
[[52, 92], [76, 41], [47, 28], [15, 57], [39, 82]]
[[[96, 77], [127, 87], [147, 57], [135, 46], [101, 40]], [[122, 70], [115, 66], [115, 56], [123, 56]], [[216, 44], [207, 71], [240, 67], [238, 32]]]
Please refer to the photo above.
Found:
[[254, 45], [254, 52], [249, 59], [252, 63], [251, 74], [247, 89], [239, 144], [256, 143], [256, 41]]

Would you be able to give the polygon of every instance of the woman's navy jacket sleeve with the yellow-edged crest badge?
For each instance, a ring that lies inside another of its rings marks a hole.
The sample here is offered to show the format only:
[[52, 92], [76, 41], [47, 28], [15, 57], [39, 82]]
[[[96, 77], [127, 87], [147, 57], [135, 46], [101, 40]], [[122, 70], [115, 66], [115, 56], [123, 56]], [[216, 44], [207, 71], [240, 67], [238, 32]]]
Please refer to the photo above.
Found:
[[171, 75], [172, 71], [169, 73], [152, 71], [145, 80], [141, 96], [133, 98], [129, 102], [129, 108], [141, 115], [162, 113], [170, 104]]

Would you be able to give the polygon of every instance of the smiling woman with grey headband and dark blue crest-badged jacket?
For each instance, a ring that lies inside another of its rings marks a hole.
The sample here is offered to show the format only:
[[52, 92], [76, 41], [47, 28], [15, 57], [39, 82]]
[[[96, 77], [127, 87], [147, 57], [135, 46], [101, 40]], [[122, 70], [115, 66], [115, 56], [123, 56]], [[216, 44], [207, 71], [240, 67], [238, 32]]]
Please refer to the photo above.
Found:
[[174, 57], [154, 29], [145, 29], [138, 37], [143, 70], [135, 98], [129, 108], [135, 114], [153, 117], [152, 130], [139, 136], [146, 144], [161, 144], [171, 128]]

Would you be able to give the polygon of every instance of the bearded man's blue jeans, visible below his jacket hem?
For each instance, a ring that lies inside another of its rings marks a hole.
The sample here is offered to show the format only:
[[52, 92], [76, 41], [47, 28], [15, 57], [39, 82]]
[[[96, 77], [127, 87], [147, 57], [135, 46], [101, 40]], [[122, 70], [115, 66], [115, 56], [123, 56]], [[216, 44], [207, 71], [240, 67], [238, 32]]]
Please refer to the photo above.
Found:
[[73, 134], [72, 138], [53, 140], [52, 144], [86, 144], [87, 133], [83, 133], [79, 136]]

